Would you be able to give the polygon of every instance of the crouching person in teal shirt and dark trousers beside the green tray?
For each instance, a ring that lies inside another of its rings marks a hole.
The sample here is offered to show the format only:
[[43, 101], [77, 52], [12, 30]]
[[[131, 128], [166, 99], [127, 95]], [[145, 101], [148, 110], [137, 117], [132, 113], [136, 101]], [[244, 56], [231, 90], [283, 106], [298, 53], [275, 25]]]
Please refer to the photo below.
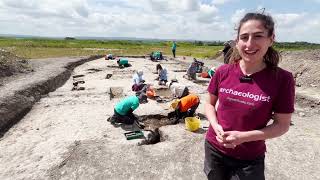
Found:
[[126, 97], [115, 105], [114, 114], [112, 117], [108, 118], [108, 121], [113, 125], [116, 123], [133, 124], [137, 120], [133, 111], [139, 107], [139, 104], [147, 102], [148, 99], [145, 94]]

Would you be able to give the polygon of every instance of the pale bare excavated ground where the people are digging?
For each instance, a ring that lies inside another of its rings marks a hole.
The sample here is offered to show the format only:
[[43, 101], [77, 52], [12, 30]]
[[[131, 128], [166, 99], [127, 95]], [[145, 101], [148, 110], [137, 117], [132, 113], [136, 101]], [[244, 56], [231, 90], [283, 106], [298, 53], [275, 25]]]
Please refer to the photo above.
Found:
[[[133, 66], [126, 69], [114, 68], [114, 61], [103, 59], [85, 63], [73, 72], [84, 75], [85, 90], [71, 91], [70, 78], [36, 103], [0, 139], [0, 179], [206, 179], [202, 170], [204, 130], [188, 132], [182, 123], [163, 126], [162, 142], [137, 146], [141, 139], [127, 141], [123, 133], [128, 129], [106, 121], [121, 96], [133, 95], [134, 70], [142, 69], [146, 82], [155, 83], [155, 62], [129, 61]], [[183, 72], [174, 72], [184, 69], [184, 64], [162, 64], [169, 79], [177, 78], [201, 96], [198, 112], [204, 113], [206, 83], [193, 83], [182, 78]], [[110, 73], [112, 77], [106, 79]], [[122, 95], [110, 98], [110, 87], [122, 90]], [[309, 105], [297, 107], [294, 125], [285, 136], [267, 141], [266, 179], [318, 178], [320, 119], [317, 107]], [[168, 103], [150, 100], [135, 113], [166, 115], [168, 107]], [[202, 123], [208, 125], [204, 119]]]

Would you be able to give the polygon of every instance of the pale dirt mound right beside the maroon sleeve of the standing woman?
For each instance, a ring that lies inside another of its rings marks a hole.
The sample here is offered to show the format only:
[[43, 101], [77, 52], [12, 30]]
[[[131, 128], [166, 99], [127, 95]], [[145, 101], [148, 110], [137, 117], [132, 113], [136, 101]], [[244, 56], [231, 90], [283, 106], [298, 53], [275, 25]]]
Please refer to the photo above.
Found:
[[319, 88], [320, 50], [282, 52], [280, 66], [292, 72], [298, 87]]

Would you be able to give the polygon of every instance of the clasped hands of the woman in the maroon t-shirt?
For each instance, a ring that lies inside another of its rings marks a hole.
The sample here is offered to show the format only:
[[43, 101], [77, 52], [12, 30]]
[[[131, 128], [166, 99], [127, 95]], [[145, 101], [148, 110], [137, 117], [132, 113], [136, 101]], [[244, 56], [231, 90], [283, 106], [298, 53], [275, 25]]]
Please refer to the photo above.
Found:
[[244, 142], [242, 135], [241, 131], [225, 131], [223, 138], [217, 138], [217, 141], [226, 148], [235, 148]]

